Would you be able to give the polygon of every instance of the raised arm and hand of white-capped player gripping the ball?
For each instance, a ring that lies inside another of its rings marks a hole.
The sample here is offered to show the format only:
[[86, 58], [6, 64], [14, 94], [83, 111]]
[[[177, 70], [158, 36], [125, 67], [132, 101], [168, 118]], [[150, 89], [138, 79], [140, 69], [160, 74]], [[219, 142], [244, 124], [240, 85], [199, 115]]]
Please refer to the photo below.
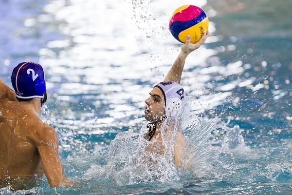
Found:
[[167, 73], [166, 77], [164, 78], [164, 81], [175, 81], [175, 82], [180, 83], [186, 57], [191, 52], [198, 49], [205, 42], [205, 40], [208, 37], [209, 37], [209, 31], [208, 32], [204, 31], [204, 35], [202, 36], [202, 38], [198, 42], [191, 43], [190, 42], [191, 37], [188, 35], [186, 37], [185, 44], [183, 44], [183, 46], [182, 46], [181, 53], [179, 54], [178, 58], [175, 60], [170, 71]]

